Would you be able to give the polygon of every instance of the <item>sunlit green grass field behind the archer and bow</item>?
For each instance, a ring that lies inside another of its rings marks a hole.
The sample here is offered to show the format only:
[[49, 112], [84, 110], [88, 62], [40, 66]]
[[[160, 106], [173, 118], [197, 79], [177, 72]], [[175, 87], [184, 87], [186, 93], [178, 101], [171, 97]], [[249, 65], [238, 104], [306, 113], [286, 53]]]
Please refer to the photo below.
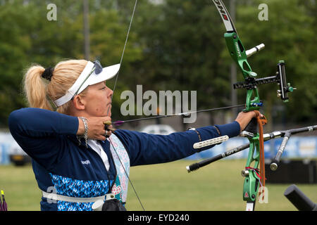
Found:
[[[130, 179], [145, 210], [244, 210], [242, 200], [244, 160], [222, 160], [187, 173], [192, 161], [179, 160], [160, 165], [130, 168]], [[290, 184], [267, 184], [268, 203], [256, 210], [297, 210], [283, 195]], [[297, 184], [317, 203], [317, 185]], [[39, 210], [41, 192], [32, 167], [0, 166], [0, 188], [5, 191], [8, 210]], [[129, 185], [128, 210], [142, 210]]]

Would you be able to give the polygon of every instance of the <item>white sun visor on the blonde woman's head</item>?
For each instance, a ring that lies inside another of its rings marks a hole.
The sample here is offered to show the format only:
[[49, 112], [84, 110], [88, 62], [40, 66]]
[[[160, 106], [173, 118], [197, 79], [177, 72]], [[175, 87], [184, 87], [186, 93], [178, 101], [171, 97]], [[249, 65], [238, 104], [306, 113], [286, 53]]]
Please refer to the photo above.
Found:
[[[82, 73], [76, 79], [73, 86], [71, 86], [70, 89], [68, 89], [64, 96], [61, 96], [61, 98], [58, 98], [54, 101], [57, 107], [70, 101], [75, 94], [80, 94], [80, 92], [84, 91], [87, 88], [87, 86], [97, 84], [99, 82], [104, 82], [107, 79], [111, 79], [112, 77], [116, 76], [116, 74], [120, 70], [120, 64], [110, 65], [106, 68], [102, 68], [102, 71], [99, 74], [96, 74], [95, 71], [92, 72], [93, 68], [94, 63], [88, 61], [87, 65], [85, 66], [84, 70], [82, 70]], [[92, 72], [91, 75], [89, 75], [90, 72]], [[89, 77], [87, 78], [87, 76]]]

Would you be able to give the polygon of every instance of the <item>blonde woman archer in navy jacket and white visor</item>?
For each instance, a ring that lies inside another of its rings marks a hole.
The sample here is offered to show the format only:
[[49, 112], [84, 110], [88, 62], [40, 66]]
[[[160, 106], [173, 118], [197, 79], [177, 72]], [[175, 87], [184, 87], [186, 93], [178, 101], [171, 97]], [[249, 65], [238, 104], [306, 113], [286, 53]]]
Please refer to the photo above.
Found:
[[[111, 131], [111, 96], [106, 80], [120, 65], [66, 60], [54, 68], [32, 66], [24, 77], [31, 108], [8, 118], [11, 134], [32, 158], [42, 191], [41, 210], [125, 210], [130, 166], [171, 162], [197, 153], [198, 141], [237, 136], [256, 113], [240, 113], [229, 124], [169, 135]], [[52, 108], [54, 104], [57, 108]], [[205, 148], [206, 149], [206, 148]]]

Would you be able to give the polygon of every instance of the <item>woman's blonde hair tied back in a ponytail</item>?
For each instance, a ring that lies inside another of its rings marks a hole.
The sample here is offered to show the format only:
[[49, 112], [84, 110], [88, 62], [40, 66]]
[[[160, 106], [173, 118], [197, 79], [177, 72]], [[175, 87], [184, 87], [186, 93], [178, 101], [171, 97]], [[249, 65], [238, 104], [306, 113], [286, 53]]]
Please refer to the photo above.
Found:
[[[41, 65], [31, 66], [23, 79], [24, 91], [30, 107], [54, 110], [51, 101], [55, 101], [66, 94], [66, 91], [75, 83], [87, 60], [65, 60], [58, 63], [53, 71], [51, 81], [42, 78], [45, 68]], [[80, 95], [85, 95], [82, 91]], [[58, 113], [68, 114], [70, 101], [57, 108]]]

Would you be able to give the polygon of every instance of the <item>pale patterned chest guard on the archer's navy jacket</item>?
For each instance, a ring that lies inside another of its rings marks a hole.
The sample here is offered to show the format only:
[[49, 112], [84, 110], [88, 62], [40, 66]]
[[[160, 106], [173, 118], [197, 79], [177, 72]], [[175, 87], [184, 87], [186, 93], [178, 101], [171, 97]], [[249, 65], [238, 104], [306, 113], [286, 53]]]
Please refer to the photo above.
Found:
[[113, 160], [115, 161], [117, 168], [116, 183], [113, 185], [111, 192], [116, 195], [116, 199], [125, 203], [128, 194], [130, 158], [127, 150], [125, 150], [125, 147], [123, 146], [123, 143], [121, 143], [116, 135], [111, 135], [109, 139], [111, 141], [111, 154], [113, 155]]

